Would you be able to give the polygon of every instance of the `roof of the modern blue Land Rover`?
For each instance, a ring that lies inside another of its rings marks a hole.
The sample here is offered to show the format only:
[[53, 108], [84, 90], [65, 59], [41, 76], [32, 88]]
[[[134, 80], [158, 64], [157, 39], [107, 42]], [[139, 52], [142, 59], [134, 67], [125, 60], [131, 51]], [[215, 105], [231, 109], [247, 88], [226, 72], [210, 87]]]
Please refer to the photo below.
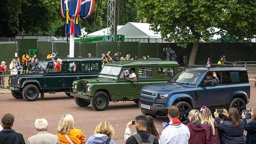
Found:
[[246, 70], [244, 67], [210, 67], [206, 68], [204, 67], [185, 67], [185, 69], [192, 69], [192, 70], [199, 70], [199, 71], [205, 71], [205, 72], [211, 72], [211, 71], [230, 71], [230, 70], [236, 70], [236, 71], [243, 71]]

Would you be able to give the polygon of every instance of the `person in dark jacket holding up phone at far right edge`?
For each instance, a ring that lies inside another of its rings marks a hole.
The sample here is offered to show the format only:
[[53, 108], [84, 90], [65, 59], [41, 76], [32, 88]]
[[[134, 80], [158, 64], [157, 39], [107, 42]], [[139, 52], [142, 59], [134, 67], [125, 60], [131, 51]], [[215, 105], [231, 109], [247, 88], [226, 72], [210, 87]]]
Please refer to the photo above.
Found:
[[[254, 107], [250, 114], [242, 113], [242, 119], [245, 123], [244, 130], [247, 131], [245, 142], [246, 144], [256, 144], [256, 107]], [[251, 119], [249, 123], [247, 123], [247, 119]]]

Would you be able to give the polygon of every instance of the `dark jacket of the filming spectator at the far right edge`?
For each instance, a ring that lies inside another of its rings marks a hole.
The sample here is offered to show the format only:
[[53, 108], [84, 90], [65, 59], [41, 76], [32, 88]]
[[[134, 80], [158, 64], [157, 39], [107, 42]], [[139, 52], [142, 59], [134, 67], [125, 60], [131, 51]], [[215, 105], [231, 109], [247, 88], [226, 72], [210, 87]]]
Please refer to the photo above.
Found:
[[247, 131], [246, 144], [256, 144], [256, 120], [252, 120], [247, 124], [246, 119], [243, 119], [245, 126], [244, 130]]

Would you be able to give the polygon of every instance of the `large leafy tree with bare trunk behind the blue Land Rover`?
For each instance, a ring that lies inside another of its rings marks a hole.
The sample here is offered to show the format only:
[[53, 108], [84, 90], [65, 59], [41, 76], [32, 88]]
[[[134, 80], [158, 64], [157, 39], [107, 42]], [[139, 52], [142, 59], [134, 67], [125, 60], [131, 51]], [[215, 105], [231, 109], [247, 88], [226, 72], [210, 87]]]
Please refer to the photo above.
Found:
[[162, 37], [184, 48], [193, 43], [189, 66], [195, 64], [201, 39], [220, 34], [250, 42], [256, 34], [255, 0], [137, 0], [136, 6]]

